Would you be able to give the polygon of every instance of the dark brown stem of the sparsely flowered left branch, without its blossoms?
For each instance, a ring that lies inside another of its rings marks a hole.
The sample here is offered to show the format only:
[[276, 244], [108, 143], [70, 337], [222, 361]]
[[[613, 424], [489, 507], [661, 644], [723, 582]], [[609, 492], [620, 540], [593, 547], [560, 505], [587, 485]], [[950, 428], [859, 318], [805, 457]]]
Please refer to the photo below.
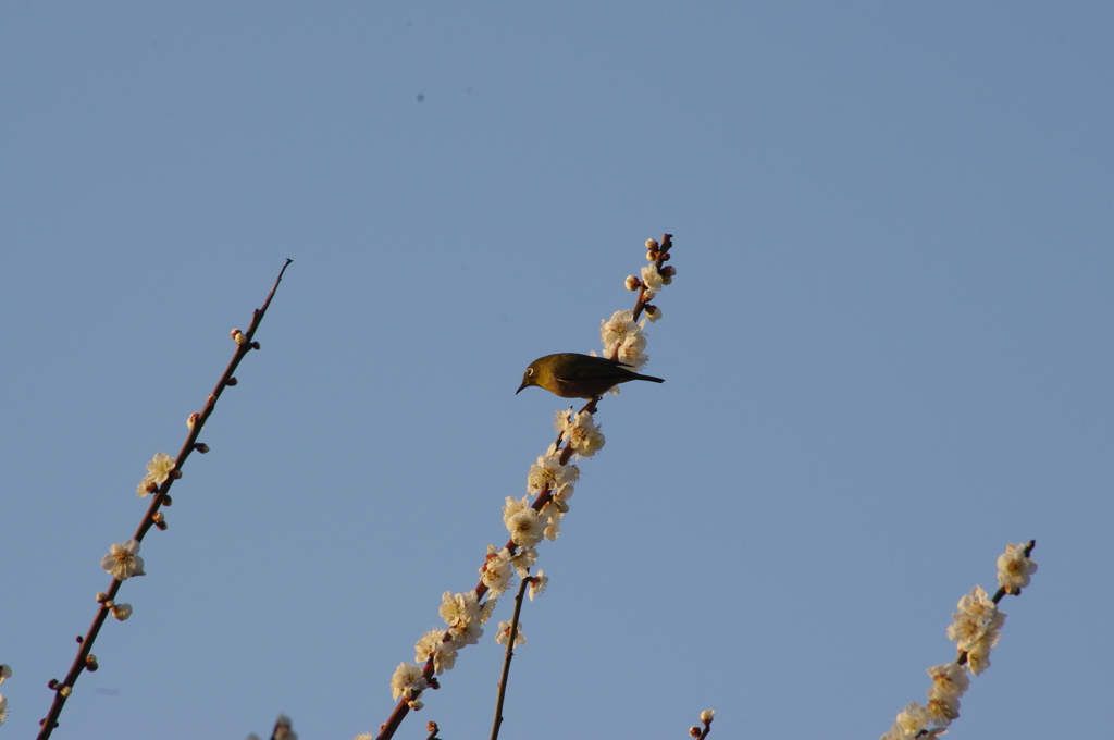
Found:
[[[266, 313], [267, 306], [271, 305], [271, 299], [274, 298], [275, 291], [278, 289], [278, 283], [282, 282], [283, 273], [286, 272], [286, 267], [293, 260], [286, 260], [283, 264], [282, 270], [278, 271], [278, 278], [275, 279], [274, 285], [271, 288], [271, 292], [267, 294], [267, 300], [263, 302], [263, 306], [256, 309], [252, 313], [252, 323], [244, 332], [245, 341], [243, 344], [236, 344], [236, 351], [232, 356], [232, 361], [228, 362], [228, 367], [225, 369], [224, 373], [221, 376], [221, 380], [217, 381], [216, 388], [209, 393], [208, 398], [205, 400], [205, 407], [197, 415], [196, 420], [193, 423], [193, 428], [189, 434], [186, 435], [186, 441], [182, 445], [182, 449], [178, 451], [178, 457], [174, 460], [174, 473], [177, 474], [182, 470], [182, 466], [185, 464], [186, 458], [189, 457], [190, 452], [194, 451], [195, 445], [197, 442], [197, 435], [201, 434], [202, 428], [205, 426], [205, 420], [209, 418], [213, 413], [213, 409], [216, 407], [216, 401], [221, 398], [221, 393], [229, 384], [228, 381], [232, 379], [233, 373], [240, 366], [240, 361], [244, 359], [253, 349], [258, 349], [258, 345], [252, 341], [252, 337], [255, 335], [255, 330], [258, 328], [260, 322], [263, 321], [263, 314]], [[234, 384], [234, 383], [233, 383]], [[136, 528], [136, 533], [133, 538], [136, 542], [143, 542], [144, 536], [147, 530], [155, 524], [155, 514], [158, 513], [159, 508], [167, 500], [167, 494], [170, 490], [170, 486], [174, 485], [175, 476], [170, 475], [167, 479], [159, 486], [158, 490], [155, 493], [154, 499], [152, 499], [150, 506], [147, 508], [147, 513], [144, 514], [143, 519], [139, 522], [139, 526]], [[119, 578], [113, 577], [111, 583], [108, 585], [108, 591], [105, 592], [106, 598], [100, 600], [100, 605], [97, 608], [97, 615], [92, 619], [92, 624], [89, 626], [89, 631], [85, 636], [78, 635], [78, 650], [77, 655], [74, 658], [74, 663], [70, 665], [69, 671], [66, 673], [66, 678], [62, 681], [51, 680], [50, 688], [55, 690], [55, 700], [50, 704], [50, 712], [47, 713], [46, 718], [39, 721], [39, 740], [46, 740], [53, 732], [55, 728], [58, 727], [58, 717], [61, 714], [62, 707], [66, 705], [66, 700], [69, 698], [70, 692], [74, 689], [74, 684], [77, 682], [78, 676], [87, 668], [90, 668], [89, 655], [92, 650], [92, 644], [97, 640], [97, 635], [100, 633], [100, 627], [105, 624], [105, 620], [108, 617], [109, 612], [111, 612], [110, 604], [116, 600], [116, 594], [120, 590], [120, 584], [123, 582]]]

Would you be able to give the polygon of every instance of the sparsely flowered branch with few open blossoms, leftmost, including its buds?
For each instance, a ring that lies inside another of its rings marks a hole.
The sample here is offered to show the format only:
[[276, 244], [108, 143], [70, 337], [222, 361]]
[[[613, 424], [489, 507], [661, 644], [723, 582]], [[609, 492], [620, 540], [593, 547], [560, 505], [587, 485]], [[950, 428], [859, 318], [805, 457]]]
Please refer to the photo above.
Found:
[[77, 681], [78, 676], [81, 675], [81, 671], [97, 670], [97, 659], [91, 653], [91, 650], [105, 620], [110, 613], [120, 621], [124, 621], [131, 615], [130, 605], [117, 604], [115, 602], [116, 594], [119, 592], [120, 585], [124, 581], [131, 576], [144, 575], [143, 558], [138, 555], [139, 543], [143, 542], [144, 536], [153, 526], [159, 529], [166, 528], [166, 518], [159, 509], [163, 506], [170, 505], [170, 486], [174, 485], [176, 479], [182, 477], [182, 466], [185, 464], [186, 458], [189, 457], [190, 452], [194, 450], [198, 452], [208, 451], [207, 446], [197, 441], [197, 435], [201, 434], [206, 419], [209, 418], [214, 408], [216, 408], [216, 401], [221, 398], [221, 393], [224, 392], [224, 389], [228, 386], [236, 384], [236, 378], [233, 373], [240, 366], [240, 361], [244, 359], [244, 356], [246, 356], [251, 350], [260, 349], [260, 343], [253, 341], [255, 330], [258, 328], [260, 322], [263, 321], [263, 314], [266, 313], [267, 306], [271, 305], [271, 299], [274, 298], [275, 291], [278, 289], [278, 283], [282, 282], [283, 273], [286, 272], [286, 266], [290, 265], [291, 262], [292, 260], [286, 260], [286, 263], [278, 272], [278, 278], [271, 288], [271, 293], [267, 294], [267, 300], [263, 302], [262, 308], [256, 309], [252, 313], [252, 323], [248, 325], [247, 332], [242, 332], [238, 329], [233, 330], [232, 338], [236, 342], [236, 351], [232, 356], [232, 361], [228, 362], [228, 367], [221, 376], [221, 380], [217, 381], [216, 388], [213, 389], [213, 392], [209, 393], [208, 398], [205, 400], [204, 408], [199, 412], [189, 416], [189, 434], [186, 436], [186, 441], [178, 451], [178, 456], [172, 460], [168, 455], [159, 452], [155, 456], [155, 459], [147, 465], [148, 473], [139, 484], [138, 493], [140, 496], [155, 494], [155, 497], [152, 499], [150, 506], [147, 508], [147, 513], [144, 514], [143, 519], [139, 522], [139, 526], [136, 528], [135, 535], [133, 535], [131, 539], [123, 545], [113, 545], [109, 554], [101, 561], [101, 566], [113, 574], [113, 581], [108, 586], [108, 591], [97, 594], [97, 602], [99, 603], [97, 615], [94, 617], [92, 624], [89, 626], [89, 631], [85, 634], [85, 636], [82, 637], [81, 635], [78, 635], [77, 656], [74, 659], [74, 663], [70, 665], [69, 672], [66, 673], [66, 678], [61, 681], [51, 679], [48, 683], [48, 685], [55, 691], [55, 700], [50, 705], [50, 712], [39, 722], [41, 727], [39, 730], [39, 740], [46, 740], [46, 738], [49, 738], [50, 733], [53, 732], [53, 729], [58, 727], [58, 717], [61, 714], [62, 707], [66, 705], [66, 700], [74, 690], [74, 683]]

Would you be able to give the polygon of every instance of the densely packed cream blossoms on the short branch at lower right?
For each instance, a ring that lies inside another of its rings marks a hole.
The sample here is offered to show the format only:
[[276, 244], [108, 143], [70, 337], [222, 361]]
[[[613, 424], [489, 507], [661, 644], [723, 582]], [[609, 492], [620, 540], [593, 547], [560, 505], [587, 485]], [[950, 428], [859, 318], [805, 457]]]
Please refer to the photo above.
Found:
[[[1037, 564], [1028, 558], [1030, 547], [1008, 545], [998, 558], [998, 583], [1003, 593], [1020, 593], [1022, 587], [1029, 585], [1029, 575], [1037, 569]], [[990, 649], [1001, 636], [1006, 614], [981, 586], [975, 586], [969, 594], [965, 594], [957, 608], [959, 611], [951, 615], [948, 626], [948, 639], [956, 643], [959, 660], [928, 669], [932, 678], [928, 703], [913, 701], [907, 704], [881, 740], [935, 738], [947, 732], [951, 720], [959, 717], [959, 698], [970, 683], [967, 673], [979, 675], [990, 665]]]

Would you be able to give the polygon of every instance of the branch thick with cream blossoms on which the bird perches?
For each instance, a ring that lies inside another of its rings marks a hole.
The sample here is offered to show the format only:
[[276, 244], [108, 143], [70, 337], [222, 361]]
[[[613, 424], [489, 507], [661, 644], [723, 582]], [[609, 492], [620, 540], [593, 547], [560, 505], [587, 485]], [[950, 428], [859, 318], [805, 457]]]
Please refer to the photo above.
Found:
[[[646, 338], [643, 334], [645, 321], [657, 321], [661, 309], [651, 301], [663, 286], [673, 282], [676, 269], [665, 266], [670, 260], [670, 249], [673, 246], [673, 235], [663, 234], [662, 241], [646, 241], [646, 259], [649, 262], [641, 271], [642, 278], [631, 275], [625, 281], [629, 291], [638, 291], [634, 309], [617, 311], [610, 320], [603, 322], [600, 338], [604, 342], [604, 353], [610, 359], [618, 359], [624, 364], [637, 371], [646, 363], [643, 352]], [[638, 317], [645, 312], [646, 318], [638, 322]], [[613, 389], [614, 392], [618, 392]], [[417, 645], [418, 661], [422, 665], [401, 663], [391, 679], [391, 688], [398, 700], [387, 721], [380, 726], [379, 740], [389, 740], [411, 709], [421, 709], [419, 701], [427, 688], [439, 689], [434, 674], [440, 674], [452, 668], [457, 650], [466, 644], [472, 644], [482, 634], [481, 624], [487, 621], [495, 607], [495, 598], [506, 591], [510, 581], [510, 569], [518, 572], [524, 581], [529, 575], [529, 568], [537, 558], [535, 545], [545, 536], [555, 539], [559, 532], [560, 518], [568, 512], [567, 498], [573, 495], [573, 484], [579, 476], [579, 470], [569, 465], [573, 455], [590, 457], [603, 446], [603, 435], [599, 434], [592, 415], [596, 412], [599, 398], [589, 400], [580, 412], [571, 418], [567, 412], [558, 413], [557, 441], [550, 445], [546, 455], [538, 458], [538, 464], [531, 466], [528, 481], [529, 493], [537, 494], [534, 503], [527, 505], [526, 498], [517, 502], [507, 499], [504, 507], [504, 523], [511, 532], [511, 537], [502, 549], [488, 547], [488, 556], [480, 567], [480, 581], [470, 592], [452, 595], [446, 593], [442, 597], [441, 616], [449, 629], [428, 632]], [[564, 446], [561, 445], [564, 440]], [[543, 533], [544, 529], [544, 533]], [[540, 572], [539, 572], [540, 576]], [[544, 586], [543, 586], [544, 587]], [[480, 603], [483, 596], [490, 597]], [[495, 732], [501, 721], [501, 704], [497, 710]]]

